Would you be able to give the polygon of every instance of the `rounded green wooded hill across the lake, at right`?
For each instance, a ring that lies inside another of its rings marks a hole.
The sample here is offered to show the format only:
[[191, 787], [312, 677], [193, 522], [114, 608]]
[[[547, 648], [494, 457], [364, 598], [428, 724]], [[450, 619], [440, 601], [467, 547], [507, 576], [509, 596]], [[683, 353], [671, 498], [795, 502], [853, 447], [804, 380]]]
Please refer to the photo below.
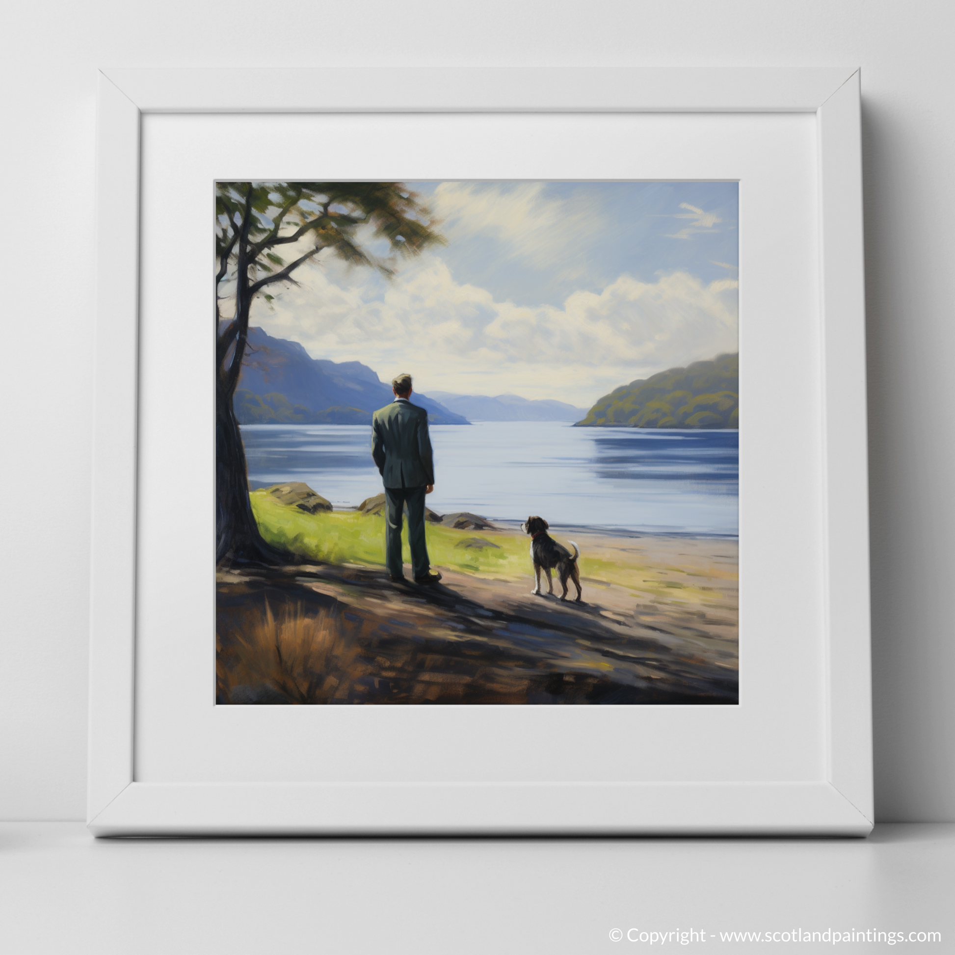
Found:
[[739, 355], [659, 371], [606, 394], [577, 427], [739, 427]]

